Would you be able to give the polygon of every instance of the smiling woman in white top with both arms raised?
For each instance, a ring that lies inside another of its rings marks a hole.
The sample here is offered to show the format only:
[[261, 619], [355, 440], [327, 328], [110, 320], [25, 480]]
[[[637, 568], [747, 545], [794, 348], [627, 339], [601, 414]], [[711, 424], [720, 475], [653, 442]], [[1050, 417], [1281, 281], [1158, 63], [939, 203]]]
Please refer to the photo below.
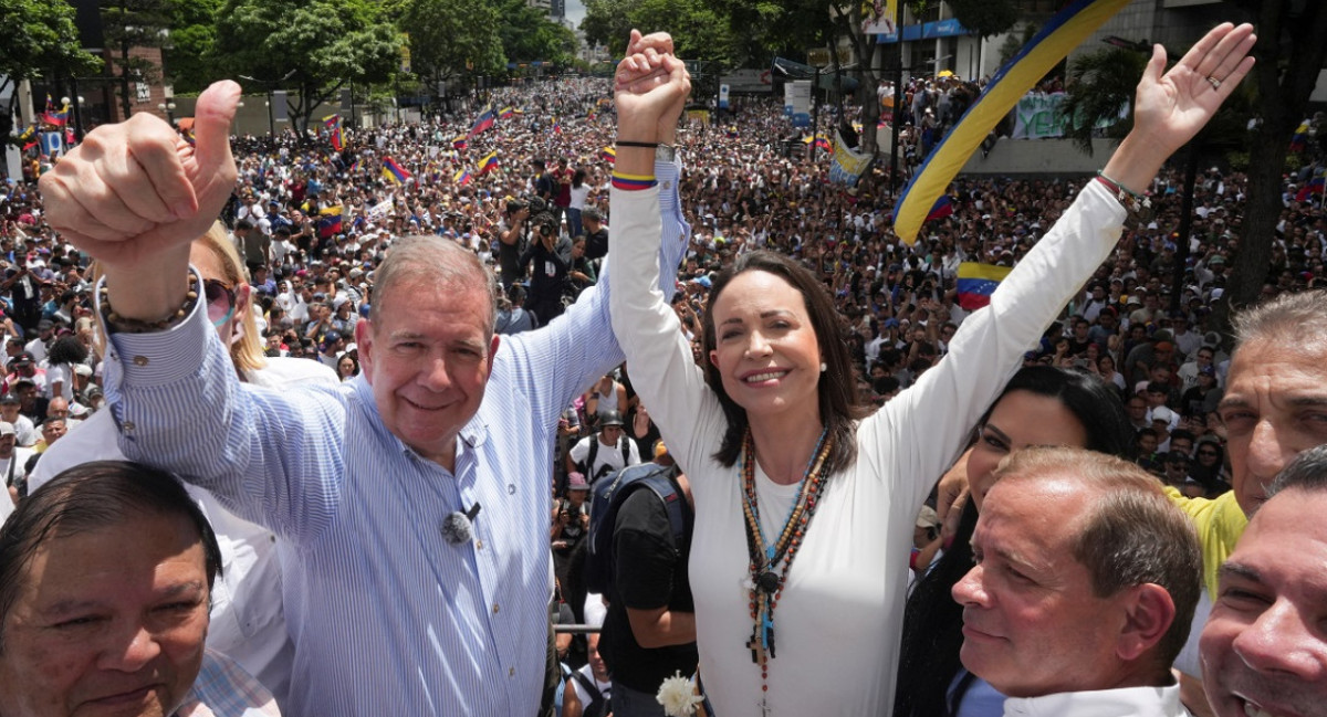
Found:
[[[771, 252], [736, 258], [693, 364], [660, 290], [656, 184], [690, 81], [666, 34], [633, 32], [617, 72], [613, 331], [633, 387], [695, 496], [690, 574], [701, 673], [718, 714], [885, 714], [893, 705], [913, 525], [1060, 309], [1111, 254], [1161, 163], [1253, 66], [1253, 28], [1221, 25], [1168, 73], [1154, 48], [1135, 126], [1104, 168], [905, 392], [867, 416], [824, 284]], [[690, 628], [690, 631], [687, 630]]]

